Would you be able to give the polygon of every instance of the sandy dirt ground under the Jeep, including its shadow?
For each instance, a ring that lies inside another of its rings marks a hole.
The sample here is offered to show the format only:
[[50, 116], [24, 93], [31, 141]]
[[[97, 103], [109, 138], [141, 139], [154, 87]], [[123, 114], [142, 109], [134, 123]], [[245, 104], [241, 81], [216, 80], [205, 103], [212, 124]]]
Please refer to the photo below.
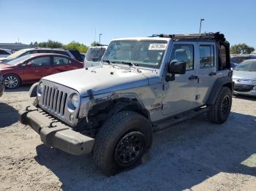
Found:
[[254, 98], [233, 98], [223, 125], [198, 116], [155, 133], [147, 163], [106, 177], [91, 157], [46, 147], [18, 122], [28, 90], [0, 98], [0, 190], [256, 190]]

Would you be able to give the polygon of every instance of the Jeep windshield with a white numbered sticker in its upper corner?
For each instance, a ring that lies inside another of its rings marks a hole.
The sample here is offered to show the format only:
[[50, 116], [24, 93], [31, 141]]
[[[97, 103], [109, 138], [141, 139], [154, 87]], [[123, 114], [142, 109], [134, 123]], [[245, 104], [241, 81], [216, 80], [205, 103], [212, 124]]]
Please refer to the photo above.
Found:
[[131, 62], [136, 66], [159, 69], [165, 54], [165, 40], [118, 40], [108, 46], [102, 61]]

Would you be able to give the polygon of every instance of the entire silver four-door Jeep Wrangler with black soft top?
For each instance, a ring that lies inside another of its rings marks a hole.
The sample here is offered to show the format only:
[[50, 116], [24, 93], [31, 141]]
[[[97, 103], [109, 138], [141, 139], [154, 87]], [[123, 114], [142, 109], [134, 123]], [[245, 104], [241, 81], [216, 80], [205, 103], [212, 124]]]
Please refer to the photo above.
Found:
[[35, 101], [20, 121], [50, 147], [92, 153], [110, 176], [141, 162], [153, 131], [203, 112], [211, 122], [225, 122], [232, 74], [223, 34], [113, 39], [100, 66], [34, 84]]

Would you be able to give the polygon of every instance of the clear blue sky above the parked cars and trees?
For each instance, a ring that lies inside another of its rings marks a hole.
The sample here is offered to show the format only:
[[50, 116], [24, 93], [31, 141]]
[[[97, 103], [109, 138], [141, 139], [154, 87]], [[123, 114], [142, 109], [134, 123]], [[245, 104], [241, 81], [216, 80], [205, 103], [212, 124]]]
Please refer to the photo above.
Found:
[[[0, 42], [86, 45], [127, 36], [221, 31], [230, 44], [256, 49], [256, 1], [79, 1], [0, 0]], [[95, 36], [96, 28], [96, 36]]]

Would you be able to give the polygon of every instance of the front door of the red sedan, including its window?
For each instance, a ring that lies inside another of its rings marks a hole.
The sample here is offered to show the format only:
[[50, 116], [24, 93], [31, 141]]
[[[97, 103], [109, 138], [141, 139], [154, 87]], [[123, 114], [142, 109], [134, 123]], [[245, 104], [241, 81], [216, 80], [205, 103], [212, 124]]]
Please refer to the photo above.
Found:
[[50, 56], [32, 58], [23, 63], [23, 80], [26, 82], [37, 82], [42, 77], [50, 75], [52, 72]]

